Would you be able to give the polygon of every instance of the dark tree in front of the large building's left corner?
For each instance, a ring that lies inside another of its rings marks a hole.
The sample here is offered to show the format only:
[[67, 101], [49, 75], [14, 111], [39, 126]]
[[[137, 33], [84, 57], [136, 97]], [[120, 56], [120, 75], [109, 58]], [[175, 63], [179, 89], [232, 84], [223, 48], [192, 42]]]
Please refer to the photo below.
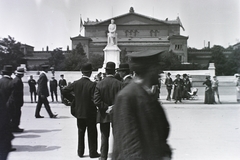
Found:
[[81, 43], [78, 43], [72, 52], [66, 54], [65, 70], [67, 71], [79, 71], [82, 64], [88, 61], [86, 53], [84, 52]]

